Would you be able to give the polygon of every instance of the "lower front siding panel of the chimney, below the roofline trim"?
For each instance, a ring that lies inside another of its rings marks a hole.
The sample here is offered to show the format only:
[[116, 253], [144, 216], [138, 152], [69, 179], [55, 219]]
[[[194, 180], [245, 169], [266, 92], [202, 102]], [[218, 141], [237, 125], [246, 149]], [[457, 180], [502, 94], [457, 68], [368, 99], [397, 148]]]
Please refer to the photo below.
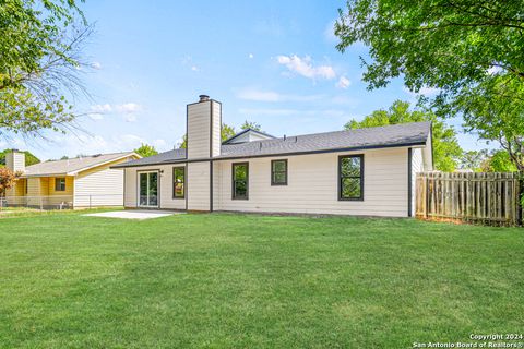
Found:
[[190, 163], [187, 171], [188, 209], [210, 210], [210, 163]]

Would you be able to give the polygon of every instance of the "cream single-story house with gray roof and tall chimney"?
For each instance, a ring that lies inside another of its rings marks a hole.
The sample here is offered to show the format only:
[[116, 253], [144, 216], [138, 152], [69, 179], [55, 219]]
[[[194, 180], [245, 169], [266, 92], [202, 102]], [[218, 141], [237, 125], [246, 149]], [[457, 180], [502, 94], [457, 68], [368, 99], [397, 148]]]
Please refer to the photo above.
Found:
[[222, 104], [202, 95], [187, 107], [187, 149], [114, 166], [124, 206], [408, 217], [415, 173], [432, 169], [429, 122], [226, 142], [221, 125]]

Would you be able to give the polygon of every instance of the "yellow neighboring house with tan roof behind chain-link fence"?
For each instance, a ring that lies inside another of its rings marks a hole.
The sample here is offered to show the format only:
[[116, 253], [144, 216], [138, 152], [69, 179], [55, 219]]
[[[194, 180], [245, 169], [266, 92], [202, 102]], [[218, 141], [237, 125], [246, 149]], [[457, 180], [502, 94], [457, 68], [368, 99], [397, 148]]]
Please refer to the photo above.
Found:
[[5, 166], [21, 172], [7, 192], [8, 205], [40, 208], [122, 206], [123, 173], [110, 167], [141, 158], [128, 153], [98, 154], [25, 166], [16, 149], [5, 156]]

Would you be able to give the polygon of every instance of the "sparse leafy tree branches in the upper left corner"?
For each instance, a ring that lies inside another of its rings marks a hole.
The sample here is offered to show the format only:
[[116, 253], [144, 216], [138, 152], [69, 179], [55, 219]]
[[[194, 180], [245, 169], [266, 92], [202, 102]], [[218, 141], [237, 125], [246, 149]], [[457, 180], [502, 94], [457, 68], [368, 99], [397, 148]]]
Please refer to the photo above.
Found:
[[[82, 0], [81, 0], [82, 1]], [[64, 132], [76, 115], [67, 95], [79, 77], [92, 32], [76, 0], [4, 0], [0, 11], [0, 136]]]

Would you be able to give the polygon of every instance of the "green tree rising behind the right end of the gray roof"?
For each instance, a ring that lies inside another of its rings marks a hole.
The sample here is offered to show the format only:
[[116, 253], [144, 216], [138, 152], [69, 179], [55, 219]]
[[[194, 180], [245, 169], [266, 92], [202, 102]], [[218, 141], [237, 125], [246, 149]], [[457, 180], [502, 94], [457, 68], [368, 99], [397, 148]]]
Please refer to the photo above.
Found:
[[455, 130], [429, 110], [409, 110], [407, 101], [395, 100], [388, 110], [376, 110], [362, 121], [350, 120], [344, 128], [353, 130], [420, 121], [432, 122], [434, 167], [441, 171], [455, 170], [457, 159], [463, 152]]

